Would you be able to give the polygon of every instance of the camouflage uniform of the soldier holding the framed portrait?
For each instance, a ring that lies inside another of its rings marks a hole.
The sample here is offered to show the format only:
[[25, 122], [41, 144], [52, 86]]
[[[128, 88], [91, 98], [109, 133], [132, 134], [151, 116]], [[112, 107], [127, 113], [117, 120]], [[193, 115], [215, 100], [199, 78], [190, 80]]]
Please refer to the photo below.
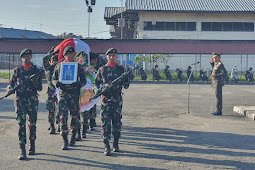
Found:
[[[52, 77], [53, 83], [57, 86], [59, 76], [60, 76], [60, 64], [56, 65], [55, 71]], [[78, 81], [79, 80], [79, 81]], [[71, 131], [72, 134], [76, 134], [79, 127], [79, 96], [80, 96], [80, 87], [86, 84], [86, 76], [84, 73], [83, 66], [78, 64], [77, 72], [77, 82], [78, 86], [73, 84], [63, 84], [63, 87], [60, 87], [59, 90], [59, 115], [60, 115], [60, 129], [61, 135], [67, 136], [68, 134], [68, 110], [70, 110], [71, 116]]]

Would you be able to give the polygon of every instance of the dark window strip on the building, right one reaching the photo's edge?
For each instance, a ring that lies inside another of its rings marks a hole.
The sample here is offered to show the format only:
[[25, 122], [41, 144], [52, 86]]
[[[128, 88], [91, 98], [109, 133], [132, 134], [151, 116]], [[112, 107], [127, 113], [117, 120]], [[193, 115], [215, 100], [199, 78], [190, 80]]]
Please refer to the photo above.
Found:
[[253, 32], [253, 22], [202, 22], [202, 31], [244, 31]]

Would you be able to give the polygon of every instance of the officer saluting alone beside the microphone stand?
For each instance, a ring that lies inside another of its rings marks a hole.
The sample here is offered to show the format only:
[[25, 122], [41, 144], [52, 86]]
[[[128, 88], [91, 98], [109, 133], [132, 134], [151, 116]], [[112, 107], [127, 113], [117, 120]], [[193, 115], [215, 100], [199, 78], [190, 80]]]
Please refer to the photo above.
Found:
[[220, 55], [213, 53], [211, 59], [212, 71], [212, 87], [215, 90], [216, 95], [216, 108], [217, 111], [211, 113], [212, 115], [222, 115], [222, 86], [224, 86], [223, 78], [227, 74], [227, 71], [220, 61]]

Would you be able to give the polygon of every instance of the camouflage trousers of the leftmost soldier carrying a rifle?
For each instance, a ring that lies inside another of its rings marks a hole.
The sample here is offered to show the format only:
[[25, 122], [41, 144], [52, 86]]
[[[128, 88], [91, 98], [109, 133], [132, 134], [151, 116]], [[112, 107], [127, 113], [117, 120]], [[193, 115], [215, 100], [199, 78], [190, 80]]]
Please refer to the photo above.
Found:
[[[21, 97], [17, 96], [15, 99], [15, 112], [16, 120], [19, 124], [19, 143], [26, 144], [26, 118], [28, 120], [29, 127], [29, 139], [30, 141], [36, 140], [36, 121], [38, 110], [38, 97], [29, 96]], [[27, 117], [28, 115], [28, 117]]]

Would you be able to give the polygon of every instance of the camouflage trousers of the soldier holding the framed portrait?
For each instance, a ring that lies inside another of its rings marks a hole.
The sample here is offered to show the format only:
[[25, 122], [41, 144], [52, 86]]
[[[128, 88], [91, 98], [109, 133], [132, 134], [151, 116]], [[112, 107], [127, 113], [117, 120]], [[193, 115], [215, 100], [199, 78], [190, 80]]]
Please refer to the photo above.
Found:
[[73, 94], [65, 94], [60, 97], [58, 102], [59, 115], [60, 115], [60, 130], [61, 135], [68, 134], [68, 111], [71, 116], [71, 131], [76, 133], [79, 128], [79, 96]]

